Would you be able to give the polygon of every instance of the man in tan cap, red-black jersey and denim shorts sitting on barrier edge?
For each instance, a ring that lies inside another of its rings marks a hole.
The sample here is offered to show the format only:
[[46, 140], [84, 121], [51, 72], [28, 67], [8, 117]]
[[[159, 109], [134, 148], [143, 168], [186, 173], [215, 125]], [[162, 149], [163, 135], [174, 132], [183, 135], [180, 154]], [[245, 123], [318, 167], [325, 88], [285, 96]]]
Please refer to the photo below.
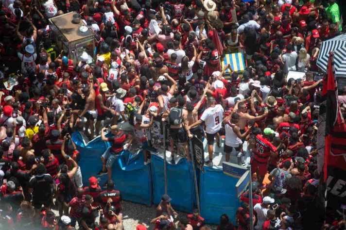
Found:
[[110, 127], [110, 131], [113, 134], [111, 137], [104, 136], [105, 130], [107, 128], [102, 128], [101, 130], [101, 140], [110, 142], [112, 146], [107, 148], [101, 156], [102, 170], [97, 175], [101, 176], [108, 172], [108, 180], [112, 180], [112, 165], [120, 156], [124, 143], [128, 142], [129, 137], [127, 137], [125, 132], [120, 131], [117, 125]]

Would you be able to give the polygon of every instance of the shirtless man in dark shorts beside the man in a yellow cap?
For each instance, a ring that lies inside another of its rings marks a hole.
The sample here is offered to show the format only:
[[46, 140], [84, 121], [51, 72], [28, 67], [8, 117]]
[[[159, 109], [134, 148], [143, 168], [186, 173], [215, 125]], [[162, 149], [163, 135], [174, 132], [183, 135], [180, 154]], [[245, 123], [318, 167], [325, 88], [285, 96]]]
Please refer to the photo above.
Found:
[[87, 118], [85, 134], [89, 136], [87, 129], [90, 128], [90, 138], [92, 139], [94, 137], [94, 120], [97, 118], [97, 111], [95, 111], [96, 97], [95, 90], [93, 88], [94, 82], [92, 76], [89, 77], [89, 82], [89, 87], [83, 89], [83, 94], [87, 98], [86, 105], [78, 117], [81, 118], [82, 116], [85, 116]]

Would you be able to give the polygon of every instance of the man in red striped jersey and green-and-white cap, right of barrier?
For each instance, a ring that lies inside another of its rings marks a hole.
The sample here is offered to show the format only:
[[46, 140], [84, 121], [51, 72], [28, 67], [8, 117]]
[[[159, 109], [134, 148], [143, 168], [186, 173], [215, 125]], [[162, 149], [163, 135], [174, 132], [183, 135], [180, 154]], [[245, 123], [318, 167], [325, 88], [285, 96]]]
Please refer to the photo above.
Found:
[[253, 149], [254, 157], [251, 159], [251, 171], [256, 172], [259, 182], [262, 183], [264, 176], [267, 173], [269, 158], [277, 154], [277, 148], [270, 142], [274, 131], [270, 128], [265, 128], [263, 135], [257, 134], [256, 144]]

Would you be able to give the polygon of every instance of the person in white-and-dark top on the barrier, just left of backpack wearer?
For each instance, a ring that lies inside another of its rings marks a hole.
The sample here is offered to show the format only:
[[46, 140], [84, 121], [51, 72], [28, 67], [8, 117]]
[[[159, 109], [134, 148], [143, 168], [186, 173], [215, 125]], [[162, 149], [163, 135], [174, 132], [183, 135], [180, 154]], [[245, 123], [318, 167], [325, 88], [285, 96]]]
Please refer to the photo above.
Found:
[[143, 150], [143, 155], [144, 155], [144, 165], [151, 163], [151, 160], [150, 160], [151, 154], [149, 151], [155, 151], [154, 148], [151, 148], [149, 146], [148, 139], [147, 139], [147, 129], [153, 125], [153, 119], [154, 119], [154, 116], [152, 115], [152, 113], [149, 113], [149, 116], [150, 118], [147, 116], [142, 116], [139, 113], [136, 114], [134, 136], [132, 137], [132, 139], [130, 139], [128, 145], [124, 147], [124, 150], [126, 150], [128, 146], [132, 144], [133, 141], [137, 141], [138, 143], [140, 143]]

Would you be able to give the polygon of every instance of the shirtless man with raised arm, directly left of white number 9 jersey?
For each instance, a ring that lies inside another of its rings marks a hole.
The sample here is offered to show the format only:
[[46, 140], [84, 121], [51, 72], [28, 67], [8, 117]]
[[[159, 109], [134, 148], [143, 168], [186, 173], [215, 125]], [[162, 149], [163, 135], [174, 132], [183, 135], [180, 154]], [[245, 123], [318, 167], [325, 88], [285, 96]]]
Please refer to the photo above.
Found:
[[208, 82], [206, 84], [203, 95], [202, 95], [201, 99], [199, 99], [199, 101], [197, 102], [195, 107], [193, 107], [192, 103], [187, 103], [187, 105], [186, 105], [186, 109], [188, 111], [188, 122], [189, 122], [190, 132], [193, 135], [196, 135], [197, 138], [200, 139], [201, 141], [202, 141], [202, 137], [204, 136], [203, 127], [201, 125], [198, 125], [196, 127], [191, 128], [191, 125], [193, 123], [195, 123], [196, 121], [198, 121], [198, 110], [199, 110], [199, 107], [201, 106], [201, 104], [202, 104], [202, 102], [206, 96], [206, 93], [209, 89], [209, 85], [210, 85], [210, 82]]

